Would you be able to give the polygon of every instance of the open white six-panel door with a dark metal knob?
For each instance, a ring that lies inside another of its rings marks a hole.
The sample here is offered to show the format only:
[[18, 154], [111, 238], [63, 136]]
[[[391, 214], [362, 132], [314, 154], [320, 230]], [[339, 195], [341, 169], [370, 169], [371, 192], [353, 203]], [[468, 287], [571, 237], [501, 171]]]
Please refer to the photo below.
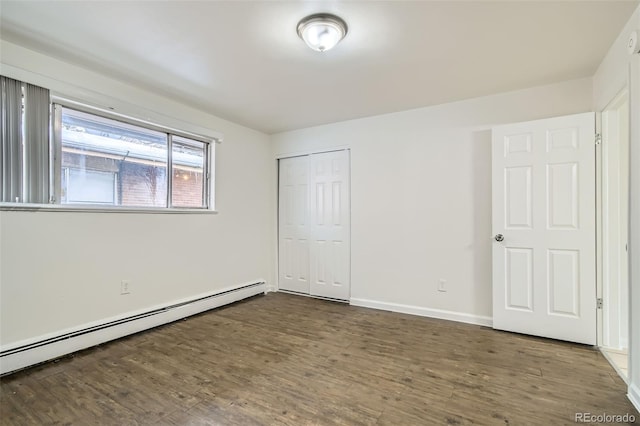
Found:
[[493, 129], [493, 327], [596, 343], [595, 117]]

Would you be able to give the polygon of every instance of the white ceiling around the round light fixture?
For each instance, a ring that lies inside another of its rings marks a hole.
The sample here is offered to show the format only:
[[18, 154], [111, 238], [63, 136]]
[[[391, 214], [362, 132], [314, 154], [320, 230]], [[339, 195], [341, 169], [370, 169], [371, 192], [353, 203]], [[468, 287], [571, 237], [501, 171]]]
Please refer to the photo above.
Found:
[[[0, 36], [275, 133], [590, 77], [637, 5], [2, 0]], [[332, 51], [296, 34], [316, 12]]]

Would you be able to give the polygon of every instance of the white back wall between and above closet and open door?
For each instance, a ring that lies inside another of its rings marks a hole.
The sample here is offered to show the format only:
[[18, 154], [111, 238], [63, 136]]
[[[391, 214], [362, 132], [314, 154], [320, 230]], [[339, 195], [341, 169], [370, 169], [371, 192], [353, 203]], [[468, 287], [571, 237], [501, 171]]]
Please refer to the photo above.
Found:
[[274, 158], [351, 149], [352, 301], [486, 323], [491, 126], [586, 112], [591, 101], [591, 79], [582, 79], [334, 123], [274, 135]]

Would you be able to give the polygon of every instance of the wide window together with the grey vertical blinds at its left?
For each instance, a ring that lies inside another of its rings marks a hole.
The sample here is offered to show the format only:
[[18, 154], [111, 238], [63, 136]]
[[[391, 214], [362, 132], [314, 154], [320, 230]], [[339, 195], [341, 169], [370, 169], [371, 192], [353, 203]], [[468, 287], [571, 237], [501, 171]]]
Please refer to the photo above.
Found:
[[0, 113], [12, 121], [0, 132], [0, 201], [212, 208], [214, 138], [74, 102], [51, 103], [48, 90], [7, 77], [1, 83]]

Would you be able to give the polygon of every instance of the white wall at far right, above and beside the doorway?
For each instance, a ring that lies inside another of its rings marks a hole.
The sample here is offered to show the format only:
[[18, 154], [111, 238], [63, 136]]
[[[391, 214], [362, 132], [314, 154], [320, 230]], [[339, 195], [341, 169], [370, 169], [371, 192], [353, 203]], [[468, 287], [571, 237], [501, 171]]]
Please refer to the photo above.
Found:
[[640, 57], [629, 55], [626, 42], [640, 30], [640, 7], [611, 46], [593, 77], [593, 104], [601, 111], [629, 84], [630, 128], [630, 330], [629, 396], [640, 410]]

